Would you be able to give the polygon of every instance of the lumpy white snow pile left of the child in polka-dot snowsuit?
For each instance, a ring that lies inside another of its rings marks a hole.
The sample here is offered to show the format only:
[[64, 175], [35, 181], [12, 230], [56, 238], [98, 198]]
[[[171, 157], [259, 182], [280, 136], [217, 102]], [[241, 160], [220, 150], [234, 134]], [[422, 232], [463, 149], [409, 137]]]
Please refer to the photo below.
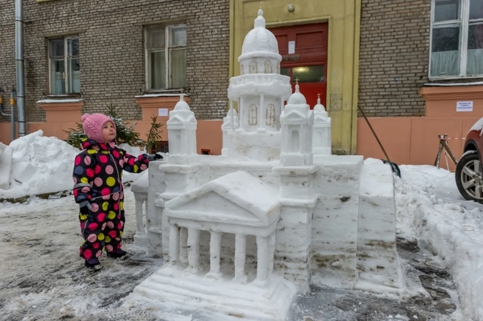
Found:
[[13, 148], [10, 188], [0, 198], [59, 192], [72, 188], [73, 159], [79, 149], [42, 130], [10, 143]]

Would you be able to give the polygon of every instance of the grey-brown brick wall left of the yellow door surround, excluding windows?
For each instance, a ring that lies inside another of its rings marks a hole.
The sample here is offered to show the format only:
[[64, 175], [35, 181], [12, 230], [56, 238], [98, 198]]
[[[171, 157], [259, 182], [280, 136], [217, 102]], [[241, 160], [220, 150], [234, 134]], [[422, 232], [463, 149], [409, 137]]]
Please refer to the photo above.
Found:
[[[0, 85], [15, 84], [15, 4], [0, 0]], [[35, 102], [48, 93], [47, 38], [79, 36], [84, 112], [105, 112], [111, 101], [121, 116], [139, 119], [134, 96], [145, 88], [143, 26], [187, 26], [187, 94], [198, 119], [221, 118], [227, 107], [229, 0], [54, 0], [24, 2], [27, 120], [44, 121]], [[7, 118], [0, 118], [6, 121]]]

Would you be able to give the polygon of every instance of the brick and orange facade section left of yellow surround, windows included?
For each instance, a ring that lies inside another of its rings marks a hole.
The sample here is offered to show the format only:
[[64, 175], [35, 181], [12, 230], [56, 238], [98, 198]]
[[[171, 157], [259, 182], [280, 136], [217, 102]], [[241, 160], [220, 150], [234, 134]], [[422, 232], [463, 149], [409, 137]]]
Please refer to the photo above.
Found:
[[[106, 112], [112, 103], [121, 117], [138, 122], [143, 136], [151, 115], [168, 119], [180, 89], [198, 119], [226, 113], [228, 0], [23, 3], [29, 132], [60, 137], [81, 112]], [[16, 82], [15, 2], [0, 5], [0, 86], [10, 98]], [[10, 112], [8, 99], [3, 107]], [[0, 120], [0, 140], [9, 141], [10, 118]]]

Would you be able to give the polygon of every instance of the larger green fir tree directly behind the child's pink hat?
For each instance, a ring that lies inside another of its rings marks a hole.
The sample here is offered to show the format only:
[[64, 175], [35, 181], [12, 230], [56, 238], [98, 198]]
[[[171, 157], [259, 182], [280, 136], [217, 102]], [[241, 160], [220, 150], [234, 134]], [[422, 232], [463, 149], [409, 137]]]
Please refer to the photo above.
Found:
[[[137, 123], [130, 123], [128, 124], [122, 118], [120, 118], [118, 107], [117, 105], [113, 104], [112, 102], [107, 105], [108, 111], [107, 116], [109, 116], [116, 125], [116, 142], [118, 144], [126, 143], [129, 146], [137, 146], [143, 148], [146, 145], [146, 142], [139, 137], [139, 133], [134, 131], [134, 126]], [[69, 128], [69, 130], [64, 130], [67, 133], [67, 138], [65, 141], [76, 148], [81, 147], [81, 142], [83, 138], [86, 138], [84, 134], [84, 130], [82, 128], [81, 123], [76, 123], [77, 128]]]

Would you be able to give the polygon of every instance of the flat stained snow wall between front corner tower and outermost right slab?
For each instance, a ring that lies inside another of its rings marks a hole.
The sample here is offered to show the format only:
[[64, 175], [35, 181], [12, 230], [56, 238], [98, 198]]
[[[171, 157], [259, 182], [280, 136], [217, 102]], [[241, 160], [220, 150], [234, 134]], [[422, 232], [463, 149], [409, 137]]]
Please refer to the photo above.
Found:
[[362, 156], [326, 156], [318, 163], [312, 220], [312, 282], [352, 287], [356, 280], [359, 175]]

